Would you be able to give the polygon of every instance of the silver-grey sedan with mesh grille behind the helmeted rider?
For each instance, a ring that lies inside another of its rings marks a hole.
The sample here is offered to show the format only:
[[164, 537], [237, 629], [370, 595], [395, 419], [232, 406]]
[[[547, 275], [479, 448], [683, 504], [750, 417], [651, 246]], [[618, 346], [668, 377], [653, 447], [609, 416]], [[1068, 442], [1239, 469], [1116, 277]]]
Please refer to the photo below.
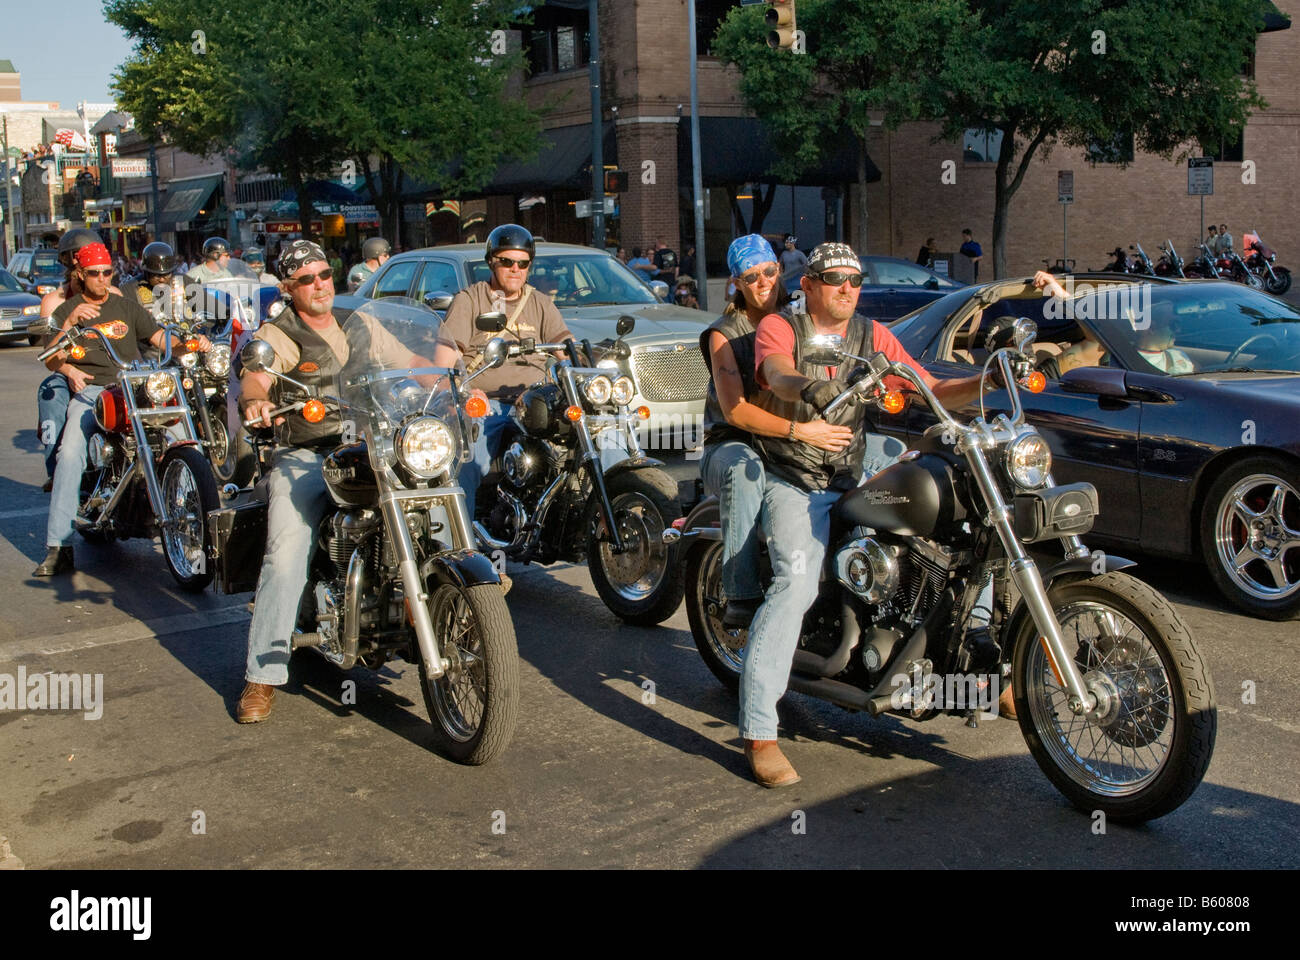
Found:
[[[488, 278], [481, 243], [424, 247], [390, 258], [355, 294], [334, 302], [352, 308], [382, 297], [426, 302], [430, 294], [456, 293]], [[650, 408], [649, 445], [702, 441], [708, 368], [699, 353], [699, 334], [715, 313], [663, 303], [666, 285], [659, 284], [656, 293], [616, 258], [594, 247], [538, 243], [528, 278], [550, 294], [580, 341], [612, 342], [619, 317], [636, 317], [636, 329], [624, 338], [632, 349], [629, 376], [637, 388], [629, 406]]]

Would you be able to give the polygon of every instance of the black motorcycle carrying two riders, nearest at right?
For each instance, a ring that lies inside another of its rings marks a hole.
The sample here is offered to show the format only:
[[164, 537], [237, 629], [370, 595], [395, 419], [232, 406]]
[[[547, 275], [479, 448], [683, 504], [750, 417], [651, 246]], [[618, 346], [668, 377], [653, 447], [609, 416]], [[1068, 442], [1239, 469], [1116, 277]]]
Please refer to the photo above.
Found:
[[[845, 493], [832, 514], [820, 594], [803, 619], [789, 689], [850, 710], [930, 719], [976, 706], [996, 715], [1010, 675], [1020, 731], [1039, 767], [1082, 810], [1121, 822], [1161, 817], [1200, 783], [1214, 747], [1210, 675], [1187, 626], [1156, 591], [1091, 554], [1080, 536], [1097, 513], [1087, 483], [1057, 487], [1052, 454], [1026, 424], [1018, 388], [1036, 327], [998, 324], [989, 364], [1009, 384], [1010, 416], [961, 424], [910, 367], [850, 356], [814, 337], [815, 362], [864, 363], [846, 402], [904, 408], [883, 392], [906, 380], [939, 418], [916, 449]], [[850, 379], [852, 380], [852, 379]], [[746, 631], [723, 627], [718, 502], [702, 501], [668, 539], [686, 549], [686, 613], [708, 669], [736, 689]], [[1060, 540], [1045, 571], [1027, 544]], [[976, 613], [992, 583], [992, 610]], [[987, 624], [982, 623], [987, 619]]]

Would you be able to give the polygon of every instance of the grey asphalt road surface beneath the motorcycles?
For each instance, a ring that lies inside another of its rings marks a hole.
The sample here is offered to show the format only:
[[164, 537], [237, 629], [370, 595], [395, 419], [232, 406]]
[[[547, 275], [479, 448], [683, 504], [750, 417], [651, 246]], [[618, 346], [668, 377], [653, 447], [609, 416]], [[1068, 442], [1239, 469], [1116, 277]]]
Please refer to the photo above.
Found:
[[511, 571], [520, 723], [485, 767], [430, 749], [403, 661], [342, 674], [295, 658], [270, 721], [237, 725], [248, 596], [178, 592], [140, 541], [78, 545], [75, 575], [31, 579], [48, 500], [34, 355], [0, 349], [0, 674], [101, 674], [104, 706], [98, 719], [0, 710], [10, 866], [1294, 865], [1300, 628], [1231, 613], [1195, 567], [1161, 561], [1140, 572], [1210, 665], [1218, 745], [1183, 808], [1104, 835], [1008, 721], [872, 721], [790, 695], [784, 745], [803, 782], [757, 787], [736, 702], [699, 660], [685, 613], [621, 626], [584, 567]]

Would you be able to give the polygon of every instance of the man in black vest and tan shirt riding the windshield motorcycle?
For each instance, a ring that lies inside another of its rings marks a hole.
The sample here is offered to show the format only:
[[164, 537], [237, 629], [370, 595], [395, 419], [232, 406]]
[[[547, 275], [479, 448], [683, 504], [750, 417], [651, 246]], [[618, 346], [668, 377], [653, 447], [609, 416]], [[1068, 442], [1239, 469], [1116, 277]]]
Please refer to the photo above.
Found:
[[[276, 349], [277, 373], [330, 392], [354, 347], [373, 351], [390, 368], [433, 366], [377, 324], [363, 319], [363, 328], [355, 317], [346, 327], [342, 324], [351, 311], [334, 306], [334, 273], [317, 243], [307, 239], [286, 243], [276, 269], [290, 303], [263, 323], [255, 337]], [[354, 332], [365, 336], [355, 337]], [[273, 424], [272, 411], [281, 406], [278, 381], [269, 373], [246, 369], [239, 382], [244, 419], [277, 427], [281, 442], [266, 475], [266, 553], [254, 596], [246, 683], [235, 713], [239, 723], [256, 723], [270, 715], [276, 687], [289, 683], [289, 654], [316, 548], [316, 529], [332, 502], [321, 463], [324, 454], [339, 445], [343, 423], [338, 414], [315, 424], [302, 414], [286, 414]]]

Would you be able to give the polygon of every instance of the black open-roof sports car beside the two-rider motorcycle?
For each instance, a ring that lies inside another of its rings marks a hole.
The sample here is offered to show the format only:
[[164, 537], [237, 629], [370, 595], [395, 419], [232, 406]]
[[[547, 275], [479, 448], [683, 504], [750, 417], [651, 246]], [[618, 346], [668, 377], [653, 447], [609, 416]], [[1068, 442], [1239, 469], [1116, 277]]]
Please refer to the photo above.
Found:
[[[1058, 483], [1096, 485], [1093, 536], [1204, 561], [1223, 594], [1268, 619], [1300, 613], [1300, 311], [1239, 284], [1121, 274], [962, 287], [890, 325], [935, 376], [976, 372], [998, 316], [1039, 324], [1049, 373], [1023, 393]], [[984, 398], [1008, 410], [1005, 393]], [[914, 442], [923, 405], [880, 414]]]

